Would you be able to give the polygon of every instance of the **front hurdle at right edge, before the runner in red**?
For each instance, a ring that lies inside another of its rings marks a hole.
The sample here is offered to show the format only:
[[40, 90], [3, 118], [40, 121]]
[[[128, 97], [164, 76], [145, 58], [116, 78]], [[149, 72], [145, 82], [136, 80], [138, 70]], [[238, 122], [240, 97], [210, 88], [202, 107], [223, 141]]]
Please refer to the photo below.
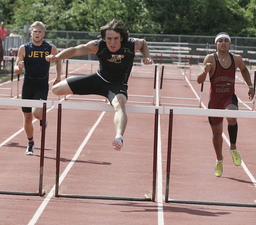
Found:
[[256, 204], [247, 204], [247, 203], [193, 201], [193, 200], [178, 200], [178, 199], [170, 199], [169, 198], [173, 115], [214, 116], [214, 117], [256, 119], [256, 112], [255, 111], [253, 111], [253, 112], [251, 112], [251, 111], [238, 111], [238, 110], [220, 110], [220, 109], [196, 109], [196, 108], [165, 107], [164, 108], [164, 113], [169, 114], [167, 163], [166, 163], [166, 186], [165, 186], [165, 196], [163, 195], [164, 202], [166, 202], [166, 203], [180, 203], [180, 204], [195, 204], [195, 205], [256, 207]]

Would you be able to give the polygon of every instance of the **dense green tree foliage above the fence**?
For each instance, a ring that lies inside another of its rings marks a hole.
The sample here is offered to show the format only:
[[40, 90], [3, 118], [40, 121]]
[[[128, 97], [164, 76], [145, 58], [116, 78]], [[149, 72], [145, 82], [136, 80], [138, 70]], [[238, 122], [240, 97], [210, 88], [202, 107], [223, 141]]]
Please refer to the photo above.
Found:
[[130, 33], [256, 37], [256, 0], [0, 0], [5, 28], [98, 32], [113, 18]]

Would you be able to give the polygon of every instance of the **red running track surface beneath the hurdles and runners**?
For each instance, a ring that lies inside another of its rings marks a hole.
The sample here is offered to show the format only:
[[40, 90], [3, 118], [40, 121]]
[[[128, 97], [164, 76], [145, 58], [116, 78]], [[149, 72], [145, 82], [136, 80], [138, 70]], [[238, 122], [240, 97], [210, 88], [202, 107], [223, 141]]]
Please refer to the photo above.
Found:
[[[71, 67], [81, 71], [79, 73], [87, 73], [86, 65], [69, 64], [69, 72], [72, 71]], [[96, 67], [92, 70], [95, 71]], [[55, 69], [52, 68], [51, 71], [50, 86], [55, 78]], [[64, 66], [63, 71], [65, 71]], [[183, 71], [182, 69], [172, 69], [172, 72], [177, 74], [181, 74]], [[189, 74], [186, 74], [186, 77], [188, 81], [173, 80], [171, 79], [172, 75], [165, 76], [164, 78], [169, 79], [165, 79], [163, 82], [162, 96], [195, 98], [189, 84], [200, 96], [201, 85], [197, 84], [195, 77], [192, 76], [191, 80], [189, 80]], [[128, 94], [152, 96], [154, 92], [153, 78], [154, 67], [134, 67], [129, 80]], [[64, 79], [64, 75], [62, 79]], [[6, 83], [0, 88], [7, 88], [10, 85], [10, 83]], [[21, 85], [22, 79], [20, 89]], [[13, 82], [13, 87], [16, 89], [17, 81]], [[207, 106], [208, 92], [209, 81], [206, 81], [203, 91], [205, 106]], [[10, 91], [0, 90], [0, 94], [10, 94]], [[16, 95], [15, 91], [14, 95]], [[236, 95], [242, 101], [247, 101], [247, 87], [238, 79]], [[56, 96], [49, 93], [49, 97]], [[62, 97], [60, 97], [61, 100]], [[90, 96], [90, 98], [102, 99], [97, 96]], [[58, 99], [51, 98], [48, 100], [58, 101]], [[129, 97], [128, 101], [151, 103], [153, 98]], [[161, 106], [170, 106], [164, 104], [171, 103], [198, 104], [196, 108], [199, 107], [199, 102], [192, 100], [162, 98], [161, 103]], [[127, 104], [153, 106], [153, 104], [141, 103]], [[252, 107], [251, 103], [248, 105]], [[244, 107], [242, 104], [239, 106], [240, 108]], [[22, 130], [23, 121], [20, 107], [0, 106], [0, 112], [0, 144], [2, 143], [0, 146], [0, 190], [37, 192], [41, 138], [39, 122], [36, 120], [34, 123], [35, 153], [33, 156], [27, 156], [25, 155], [27, 140]], [[71, 159], [101, 113], [62, 110], [60, 174], [70, 167]], [[72, 162], [72, 167], [69, 168], [67, 175], [60, 176], [59, 192], [61, 194], [136, 198], [152, 194], [154, 115], [128, 113], [124, 147], [121, 151], [115, 151], [111, 145], [115, 136], [113, 116], [112, 112], [104, 114], [81, 154], [74, 163]], [[1, 194], [0, 224], [254, 224], [256, 208], [174, 204], [163, 201], [162, 195], [165, 194], [166, 186], [169, 115], [162, 114], [159, 118], [158, 176], [155, 202], [56, 198], [53, 195], [53, 190], [55, 190], [56, 174], [57, 110], [48, 109], [43, 175], [43, 189], [46, 193], [42, 197]], [[256, 121], [253, 119], [238, 119], [237, 148], [244, 165], [236, 167], [233, 164], [232, 157], [228, 152], [228, 144], [224, 140], [223, 175], [218, 178], [213, 173], [216, 156], [207, 117], [174, 115], [169, 198], [254, 204], [256, 199], [255, 125]], [[228, 136], [225, 119], [224, 134]], [[251, 173], [251, 177], [248, 176], [248, 171]]]

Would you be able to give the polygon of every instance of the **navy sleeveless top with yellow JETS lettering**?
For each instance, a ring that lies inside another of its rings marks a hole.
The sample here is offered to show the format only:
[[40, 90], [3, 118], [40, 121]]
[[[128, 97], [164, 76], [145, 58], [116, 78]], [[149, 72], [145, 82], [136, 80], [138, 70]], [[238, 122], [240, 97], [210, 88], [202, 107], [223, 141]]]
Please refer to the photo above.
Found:
[[45, 57], [51, 54], [52, 44], [43, 41], [36, 46], [32, 42], [25, 43], [24, 82], [45, 84], [49, 81], [50, 62]]

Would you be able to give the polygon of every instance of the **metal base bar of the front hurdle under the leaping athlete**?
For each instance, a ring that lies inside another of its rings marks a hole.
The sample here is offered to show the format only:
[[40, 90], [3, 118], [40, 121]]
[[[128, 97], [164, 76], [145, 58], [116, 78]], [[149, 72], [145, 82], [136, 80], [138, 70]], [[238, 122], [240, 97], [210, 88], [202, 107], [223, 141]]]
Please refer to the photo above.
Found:
[[145, 194], [145, 198], [115, 197], [115, 196], [93, 196], [93, 195], [68, 195], [58, 194], [60, 198], [84, 198], [84, 199], [104, 199], [104, 200], [123, 200], [123, 201], [151, 201], [151, 197]]

